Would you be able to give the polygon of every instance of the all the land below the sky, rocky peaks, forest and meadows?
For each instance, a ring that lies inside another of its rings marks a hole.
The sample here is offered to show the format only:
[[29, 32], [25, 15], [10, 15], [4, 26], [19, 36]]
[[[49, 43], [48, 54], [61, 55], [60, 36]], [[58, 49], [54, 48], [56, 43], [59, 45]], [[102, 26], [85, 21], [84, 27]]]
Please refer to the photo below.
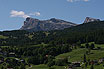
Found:
[[0, 32], [0, 69], [104, 69], [104, 21], [28, 17]]

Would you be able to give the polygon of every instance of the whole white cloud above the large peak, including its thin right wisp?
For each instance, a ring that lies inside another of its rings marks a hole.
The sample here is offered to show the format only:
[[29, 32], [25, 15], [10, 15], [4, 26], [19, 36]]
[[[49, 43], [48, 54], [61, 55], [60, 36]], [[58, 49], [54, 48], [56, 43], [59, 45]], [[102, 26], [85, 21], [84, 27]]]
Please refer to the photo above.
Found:
[[30, 16], [40, 16], [40, 12], [25, 14], [24, 11], [16, 11], [16, 10], [12, 10], [10, 14], [11, 14], [10, 17], [22, 17], [22, 18], [27, 18]]

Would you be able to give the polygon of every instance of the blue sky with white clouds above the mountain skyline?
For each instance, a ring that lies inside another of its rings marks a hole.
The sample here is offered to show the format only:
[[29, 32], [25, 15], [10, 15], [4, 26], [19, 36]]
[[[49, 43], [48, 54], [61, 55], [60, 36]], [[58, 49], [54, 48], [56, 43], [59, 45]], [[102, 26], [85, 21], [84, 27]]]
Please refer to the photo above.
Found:
[[87, 16], [104, 20], [104, 0], [0, 0], [1, 31], [19, 29], [28, 16], [77, 24]]

